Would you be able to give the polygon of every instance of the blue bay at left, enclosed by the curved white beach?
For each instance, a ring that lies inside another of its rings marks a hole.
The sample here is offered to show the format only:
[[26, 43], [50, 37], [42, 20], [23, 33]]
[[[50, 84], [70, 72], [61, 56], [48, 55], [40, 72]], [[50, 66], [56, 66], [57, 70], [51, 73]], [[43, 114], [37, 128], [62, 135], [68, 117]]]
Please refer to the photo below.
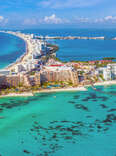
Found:
[[25, 52], [25, 42], [13, 35], [0, 33], [0, 69], [16, 61]]

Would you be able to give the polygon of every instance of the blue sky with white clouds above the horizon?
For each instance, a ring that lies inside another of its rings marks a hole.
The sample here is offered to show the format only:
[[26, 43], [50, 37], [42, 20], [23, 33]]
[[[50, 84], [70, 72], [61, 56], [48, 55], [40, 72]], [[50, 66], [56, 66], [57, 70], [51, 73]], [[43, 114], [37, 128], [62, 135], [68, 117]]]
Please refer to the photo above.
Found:
[[116, 28], [116, 0], [0, 0], [0, 28]]

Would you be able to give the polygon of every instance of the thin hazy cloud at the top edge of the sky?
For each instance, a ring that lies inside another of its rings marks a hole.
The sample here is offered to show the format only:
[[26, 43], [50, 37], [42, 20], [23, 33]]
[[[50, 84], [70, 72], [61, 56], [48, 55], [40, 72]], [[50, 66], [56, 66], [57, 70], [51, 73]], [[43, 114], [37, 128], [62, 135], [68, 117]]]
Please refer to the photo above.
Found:
[[44, 8], [55, 8], [55, 9], [64, 9], [64, 8], [79, 8], [79, 7], [88, 7], [96, 5], [101, 2], [100, 0], [43, 0], [38, 3], [38, 6]]

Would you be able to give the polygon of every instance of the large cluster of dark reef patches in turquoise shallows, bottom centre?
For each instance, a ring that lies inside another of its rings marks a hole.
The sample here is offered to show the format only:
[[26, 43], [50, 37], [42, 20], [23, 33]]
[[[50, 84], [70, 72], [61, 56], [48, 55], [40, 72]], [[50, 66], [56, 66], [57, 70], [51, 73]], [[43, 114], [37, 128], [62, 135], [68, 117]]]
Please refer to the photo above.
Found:
[[75, 136], [86, 136], [85, 132], [82, 131], [83, 127], [84, 123], [82, 122], [67, 120], [51, 121], [48, 127], [43, 127], [34, 121], [30, 131], [35, 141], [39, 140], [42, 145], [44, 144], [40, 153], [43, 156], [62, 149], [63, 144], [60, 142], [65, 141], [74, 144], [77, 142]]

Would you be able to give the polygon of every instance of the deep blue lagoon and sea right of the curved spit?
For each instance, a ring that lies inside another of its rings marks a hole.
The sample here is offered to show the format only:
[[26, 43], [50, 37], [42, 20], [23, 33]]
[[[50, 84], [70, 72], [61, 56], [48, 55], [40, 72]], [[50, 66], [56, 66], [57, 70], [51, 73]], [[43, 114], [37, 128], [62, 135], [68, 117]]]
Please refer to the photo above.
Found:
[[[105, 36], [116, 37], [116, 29], [52, 29], [24, 30], [26, 33], [49, 36]], [[57, 57], [63, 61], [100, 60], [103, 57], [116, 57], [116, 41], [113, 40], [49, 40], [59, 46]]]

